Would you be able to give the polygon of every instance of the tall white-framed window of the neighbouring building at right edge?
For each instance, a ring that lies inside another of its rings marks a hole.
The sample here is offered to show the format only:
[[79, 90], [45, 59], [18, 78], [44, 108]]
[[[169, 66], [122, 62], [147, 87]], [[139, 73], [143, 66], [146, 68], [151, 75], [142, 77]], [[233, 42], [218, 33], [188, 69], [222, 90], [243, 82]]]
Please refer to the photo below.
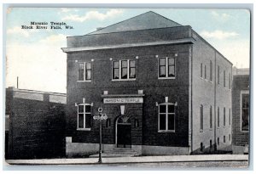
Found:
[[241, 93], [241, 131], [249, 130], [249, 93]]

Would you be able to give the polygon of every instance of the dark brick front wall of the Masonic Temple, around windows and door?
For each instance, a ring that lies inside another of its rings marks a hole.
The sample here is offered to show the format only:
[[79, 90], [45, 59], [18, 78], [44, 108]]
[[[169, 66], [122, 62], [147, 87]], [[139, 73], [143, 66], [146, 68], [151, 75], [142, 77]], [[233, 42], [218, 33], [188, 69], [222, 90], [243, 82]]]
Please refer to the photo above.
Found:
[[[158, 79], [158, 59], [156, 55], [173, 56], [177, 53], [176, 78]], [[138, 56], [138, 59], [136, 59]], [[122, 104], [132, 109], [139, 120], [136, 132], [132, 130], [132, 143], [162, 146], [188, 147], [189, 117], [189, 45], [169, 45], [141, 48], [117, 48], [97, 51], [67, 53], [67, 137], [73, 137], [76, 143], [98, 143], [98, 123], [93, 122], [91, 130], [77, 131], [77, 107], [75, 103], [93, 103], [93, 115], [102, 106], [103, 91], [108, 94], [136, 94], [143, 90], [143, 104]], [[136, 81], [112, 81], [112, 61], [119, 59], [136, 60]], [[77, 64], [79, 61], [92, 62], [92, 81], [77, 82]], [[78, 61], [76, 61], [78, 60]], [[75, 90], [74, 90], [75, 89]], [[176, 132], [158, 132], [158, 104], [177, 102]], [[114, 143], [114, 119], [120, 115], [119, 105], [104, 104], [103, 109], [112, 119], [112, 126], [103, 127], [103, 143]], [[132, 128], [131, 128], [132, 129]], [[105, 132], [106, 131], [106, 132]], [[143, 135], [143, 136], [142, 136]]]

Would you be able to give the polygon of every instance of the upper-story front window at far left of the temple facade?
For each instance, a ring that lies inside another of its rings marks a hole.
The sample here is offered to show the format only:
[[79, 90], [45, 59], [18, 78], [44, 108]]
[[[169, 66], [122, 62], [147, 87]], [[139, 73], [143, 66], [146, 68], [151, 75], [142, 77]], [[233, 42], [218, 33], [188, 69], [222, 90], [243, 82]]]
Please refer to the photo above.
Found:
[[91, 63], [79, 62], [78, 81], [91, 81]]

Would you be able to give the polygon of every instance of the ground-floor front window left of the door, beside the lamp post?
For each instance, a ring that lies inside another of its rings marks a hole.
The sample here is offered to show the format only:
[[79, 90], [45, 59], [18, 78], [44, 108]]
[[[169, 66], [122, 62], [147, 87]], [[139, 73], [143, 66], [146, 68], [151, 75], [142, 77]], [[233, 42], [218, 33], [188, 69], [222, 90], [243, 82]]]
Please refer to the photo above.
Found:
[[91, 106], [90, 104], [79, 104], [78, 106], [78, 129], [90, 130]]

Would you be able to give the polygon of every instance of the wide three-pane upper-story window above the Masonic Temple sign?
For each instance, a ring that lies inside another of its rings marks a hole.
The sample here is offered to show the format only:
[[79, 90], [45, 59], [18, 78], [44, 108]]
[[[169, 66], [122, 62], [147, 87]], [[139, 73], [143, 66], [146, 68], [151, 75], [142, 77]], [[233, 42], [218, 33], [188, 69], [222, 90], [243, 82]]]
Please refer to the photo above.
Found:
[[128, 80], [136, 78], [135, 60], [113, 61], [113, 80]]

